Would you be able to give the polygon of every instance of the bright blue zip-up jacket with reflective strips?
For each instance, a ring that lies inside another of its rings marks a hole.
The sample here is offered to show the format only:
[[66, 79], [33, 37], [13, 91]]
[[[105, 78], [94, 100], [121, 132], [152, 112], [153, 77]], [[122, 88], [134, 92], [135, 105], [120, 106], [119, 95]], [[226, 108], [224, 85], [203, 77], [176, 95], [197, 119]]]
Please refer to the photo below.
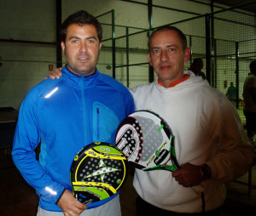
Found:
[[[84, 77], [65, 67], [60, 79], [44, 80], [29, 91], [20, 106], [12, 155], [37, 191], [40, 207], [61, 211], [56, 203], [65, 189], [72, 191], [74, 156], [92, 142], [114, 145], [119, 123], [132, 111], [129, 90], [99, 71]], [[34, 150], [39, 142], [38, 162]]]

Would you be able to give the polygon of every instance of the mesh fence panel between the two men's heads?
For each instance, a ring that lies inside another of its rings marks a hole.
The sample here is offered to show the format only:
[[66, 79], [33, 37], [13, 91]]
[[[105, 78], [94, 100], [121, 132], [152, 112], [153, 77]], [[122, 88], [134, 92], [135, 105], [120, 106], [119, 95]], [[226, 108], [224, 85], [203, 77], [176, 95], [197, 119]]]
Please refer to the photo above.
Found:
[[125, 36], [115, 39], [116, 79], [133, 87], [148, 82], [148, 31], [132, 27], [123, 29]]

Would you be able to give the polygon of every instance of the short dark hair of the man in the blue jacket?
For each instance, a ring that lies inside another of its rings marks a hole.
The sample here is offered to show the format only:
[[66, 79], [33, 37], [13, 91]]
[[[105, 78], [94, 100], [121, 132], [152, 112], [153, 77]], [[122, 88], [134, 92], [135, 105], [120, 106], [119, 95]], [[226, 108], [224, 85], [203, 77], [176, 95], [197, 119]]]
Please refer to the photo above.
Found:
[[77, 24], [79, 26], [84, 26], [84, 25], [93, 25], [96, 27], [97, 31], [97, 36], [99, 38], [99, 41], [102, 42], [102, 26], [99, 23], [96, 18], [87, 13], [84, 10], [80, 10], [74, 14], [71, 14], [70, 16], [67, 17], [67, 20], [65, 20], [62, 25], [61, 25], [61, 41], [66, 42], [66, 37], [67, 37], [67, 27], [72, 25], [72, 24]]

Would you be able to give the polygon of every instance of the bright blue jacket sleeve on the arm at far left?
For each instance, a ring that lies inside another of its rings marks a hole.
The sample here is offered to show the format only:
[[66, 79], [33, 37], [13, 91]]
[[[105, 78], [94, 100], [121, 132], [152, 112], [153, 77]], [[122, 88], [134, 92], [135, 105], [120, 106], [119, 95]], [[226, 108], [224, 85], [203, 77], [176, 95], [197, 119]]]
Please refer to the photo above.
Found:
[[22, 102], [15, 130], [12, 156], [16, 167], [29, 185], [49, 202], [57, 203], [64, 187], [53, 180], [36, 159], [35, 148], [40, 142], [37, 97], [29, 93]]

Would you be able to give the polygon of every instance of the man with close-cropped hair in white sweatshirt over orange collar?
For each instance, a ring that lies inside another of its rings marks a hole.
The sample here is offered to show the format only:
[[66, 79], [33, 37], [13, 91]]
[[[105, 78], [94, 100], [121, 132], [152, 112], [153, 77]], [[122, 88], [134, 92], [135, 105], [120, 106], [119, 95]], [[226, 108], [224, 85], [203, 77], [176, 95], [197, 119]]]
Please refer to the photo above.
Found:
[[[137, 111], [154, 111], [172, 128], [181, 168], [173, 173], [136, 168], [137, 216], [202, 215], [201, 195], [191, 189], [198, 185], [205, 195], [203, 215], [219, 216], [225, 184], [247, 173], [253, 146], [225, 95], [194, 72], [184, 71], [190, 49], [182, 31], [160, 27], [149, 37], [148, 49], [157, 79], [130, 91]], [[58, 69], [49, 74], [60, 76]]]

